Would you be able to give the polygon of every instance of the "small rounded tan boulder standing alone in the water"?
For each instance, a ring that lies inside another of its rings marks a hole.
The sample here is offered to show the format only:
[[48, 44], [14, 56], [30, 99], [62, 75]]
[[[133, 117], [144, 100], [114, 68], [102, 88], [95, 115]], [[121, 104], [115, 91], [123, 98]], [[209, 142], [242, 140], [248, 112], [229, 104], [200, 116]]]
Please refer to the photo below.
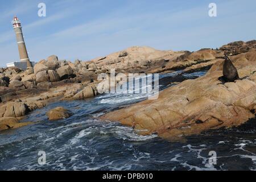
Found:
[[56, 107], [46, 113], [50, 121], [65, 119], [71, 117], [72, 113], [64, 107]]

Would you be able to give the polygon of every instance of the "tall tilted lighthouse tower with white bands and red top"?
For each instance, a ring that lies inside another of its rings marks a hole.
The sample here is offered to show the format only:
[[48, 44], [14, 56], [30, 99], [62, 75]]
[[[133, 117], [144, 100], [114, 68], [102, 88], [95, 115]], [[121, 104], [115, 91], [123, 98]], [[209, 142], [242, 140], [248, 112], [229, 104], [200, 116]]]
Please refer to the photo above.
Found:
[[19, 49], [19, 59], [21, 63], [23, 64], [26, 63], [26, 66], [27, 66], [26, 72], [29, 75], [33, 73], [33, 67], [30, 62], [30, 59], [28, 58], [28, 53], [27, 53], [27, 49], [26, 49], [26, 45], [25, 45], [23, 33], [22, 33], [22, 26], [20, 24], [19, 19], [16, 16], [14, 16], [12, 23], [13, 23], [14, 32], [16, 34], [16, 41]]

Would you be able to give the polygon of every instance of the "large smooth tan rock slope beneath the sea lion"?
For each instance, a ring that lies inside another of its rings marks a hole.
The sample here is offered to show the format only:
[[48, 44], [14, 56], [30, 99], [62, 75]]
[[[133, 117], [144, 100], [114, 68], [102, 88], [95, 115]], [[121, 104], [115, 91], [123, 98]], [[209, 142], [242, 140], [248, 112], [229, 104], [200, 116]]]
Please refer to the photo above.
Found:
[[[147, 100], [101, 117], [134, 127], [140, 134], [158, 133], [176, 139], [219, 127], [238, 126], [254, 117], [256, 109], [256, 49], [232, 56], [241, 77], [222, 84], [223, 60], [207, 75], [163, 90], [157, 100]], [[250, 80], [251, 79], [251, 80]]]

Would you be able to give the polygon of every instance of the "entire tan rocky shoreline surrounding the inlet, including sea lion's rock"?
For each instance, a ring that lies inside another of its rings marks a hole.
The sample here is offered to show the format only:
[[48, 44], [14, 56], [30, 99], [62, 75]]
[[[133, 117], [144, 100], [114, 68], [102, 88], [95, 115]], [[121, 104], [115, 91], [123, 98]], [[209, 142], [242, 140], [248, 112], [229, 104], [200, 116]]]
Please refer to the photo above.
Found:
[[[218, 80], [226, 52], [230, 53], [240, 77], [247, 78], [225, 84]], [[142, 135], [158, 133], [160, 137], [175, 139], [218, 127], [238, 126], [254, 117], [256, 40], [196, 52], [131, 47], [75, 63], [49, 56], [35, 65], [32, 74], [15, 67], [1, 68], [0, 131], [35, 123], [19, 121], [26, 121], [24, 117], [30, 111], [49, 102], [97, 96], [97, 76], [109, 74], [112, 68], [117, 73], [195, 72], [210, 68], [203, 77], [163, 90], [158, 100], [142, 101], [101, 117], [134, 127]]]

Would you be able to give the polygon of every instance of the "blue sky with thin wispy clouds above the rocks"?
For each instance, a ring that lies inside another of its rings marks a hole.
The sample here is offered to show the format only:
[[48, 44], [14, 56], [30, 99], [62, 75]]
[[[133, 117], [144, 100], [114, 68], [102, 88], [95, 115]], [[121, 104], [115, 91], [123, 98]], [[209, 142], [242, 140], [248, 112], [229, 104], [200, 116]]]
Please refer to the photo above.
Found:
[[[47, 16], [38, 16], [46, 3]], [[208, 15], [217, 4], [217, 17]], [[0, 66], [19, 60], [11, 26], [22, 22], [30, 59], [90, 60], [131, 46], [196, 51], [256, 39], [255, 0], [0, 0]]]

